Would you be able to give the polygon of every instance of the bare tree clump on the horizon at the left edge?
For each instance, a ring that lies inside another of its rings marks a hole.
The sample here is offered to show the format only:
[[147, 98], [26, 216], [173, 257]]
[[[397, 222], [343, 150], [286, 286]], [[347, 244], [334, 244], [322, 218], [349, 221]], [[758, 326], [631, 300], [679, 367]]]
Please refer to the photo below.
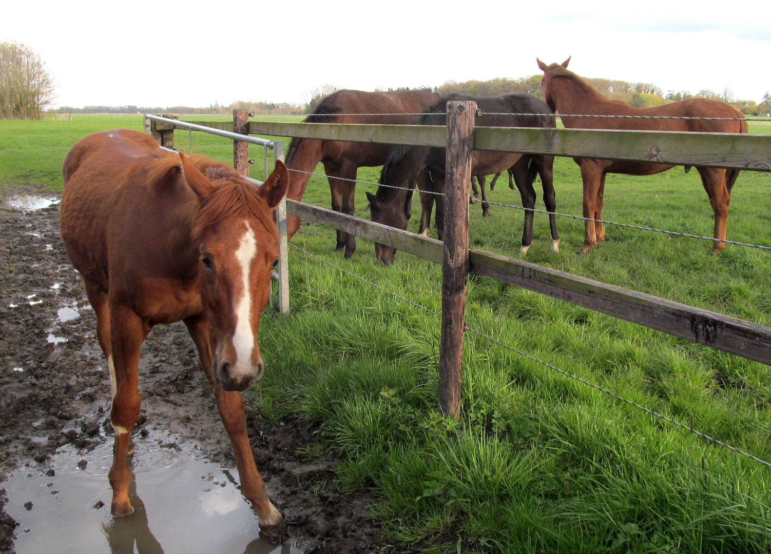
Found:
[[0, 119], [40, 119], [54, 98], [40, 56], [18, 42], [0, 42]]

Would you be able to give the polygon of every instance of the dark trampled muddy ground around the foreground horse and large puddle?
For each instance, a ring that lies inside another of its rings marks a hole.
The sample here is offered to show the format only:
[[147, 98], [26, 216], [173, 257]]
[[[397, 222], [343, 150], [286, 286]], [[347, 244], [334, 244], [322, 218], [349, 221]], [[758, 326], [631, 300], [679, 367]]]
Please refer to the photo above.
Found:
[[[79, 317], [61, 321], [72, 311]], [[64, 316], [64, 317], [60, 317]], [[0, 480], [22, 465], [45, 471], [65, 444], [111, 440], [109, 377], [96, 341], [96, 317], [59, 239], [59, 210], [0, 209]], [[230, 442], [183, 324], [158, 326], [140, 359], [142, 415], [136, 434], [153, 428], [200, 445], [234, 467]], [[394, 549], [369, 515], [372, 496], [335, 488], [335, 459], [308, 458], [311, 429], [285, 419], [270, 425], [247, 411], [254, 458], [268, 495], [303, 552], [408, 552]], [[13, 552], [21, 530], [2, 509], [0, 552]], [[255, 525], [257, 518], [255, 515]]]

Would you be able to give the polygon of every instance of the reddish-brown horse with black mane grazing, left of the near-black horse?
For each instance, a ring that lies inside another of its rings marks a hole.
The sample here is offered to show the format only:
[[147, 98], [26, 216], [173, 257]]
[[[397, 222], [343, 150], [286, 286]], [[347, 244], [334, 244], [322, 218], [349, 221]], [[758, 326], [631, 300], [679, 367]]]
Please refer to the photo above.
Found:
[[[391, 92], [362, 92], [340, 90], [323, 99], [305, 123], [374, 123], [379, 125], [409, 125], [415, 116], [402, 115], [423, 112], [439, 95], [428, 90], [395, 90]], [[358, 114], [383, 113], [385, 116]], [[302, 200], [305, 187], [319, 162], [332, 191], [332, 210], [353, 215], [356, 170], [362, 166], [382, 166], [388, 156], [388, 144], [346, 143], [338, 140], [292, 139], [287, 149], [287, 166], [292, 172], [287, 198]], [[300, 173], [305, 172], [305, 173]], [[300, 227], [300, 218], [287, 217], [287, 233], [291, 238]], [[345, 247], [345, 257], [356, 250], [356, 238], [343, 231], [337, 232], [337, 248]]]

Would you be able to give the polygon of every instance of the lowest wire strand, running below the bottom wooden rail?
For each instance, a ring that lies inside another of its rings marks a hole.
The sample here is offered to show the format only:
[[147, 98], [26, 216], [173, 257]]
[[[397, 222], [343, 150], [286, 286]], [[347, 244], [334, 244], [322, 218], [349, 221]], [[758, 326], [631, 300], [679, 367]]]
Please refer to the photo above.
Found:
[[[399, 298], [402, 301], [408, 302], [409, 304], [412, 304], [415, 307], [419, 307], [421, 310], [429, 312], [429, 314], [434, 314], [436, 317], [442, 317], [442, 314], [439, 314], [436, 311], [433, 311], [433, 310], [431, 310], [431, 309], [429, 309], [429, 308], [427, 308], [425, 306], [422, 306], [422, 305], [420, 305], [420, 304], [418, 304], [416, 302], [413, 302], [413, 301], [409, 300], [409, 298], [403, 297], [400, 294], [396, 294], [395, 292], [392, 292], [391, 290], [388, 290], [388, 289], [386, 289], [384, 287], [380, 287], [378, 284], [372, 283], [372, 281], [367, 280], [364, 277], [360, 277], [359, 275], [356, 275], [356, 274], [352, 273], [351, 271], [345, 270], [342, 267], [339, 267], [338, 265], [332, 264], [332, 262], [329, 262], [328, 260], [325, 260], [324, 258], [322, 258], [320, 256], [316, 256], [314, 253], [310, 253], [310, 252], [308, 252], [308, 250], [305, 250], [302, 247], [295, 246], [294, 244], [289, 244], [289, 246], [291, 246], [292, 248], [295, 248], [296, 250], [300, 250], [302, 253], [305, 253], [308, 256], [315, 257], [317, 260], [320, 260], [320, 261], [322, 261], [323, 263], [325, 263], [325, 264], [327, 264], [329, 266], [335, 267], [335, 269], [340, 270], [343, 273], [350, 275], [351, 277], [355, 277], [356, 279], [362, 280], [366, 284], [371, 285], [372, 287], [378, 288], [379, 290], [382, 290], [382, 291], [384, 291], [384, 292], [386, 292], [388, 294], [391, 294], [393, 297], [396, 297], [396, 298]], [[596, 384], [593, 384], [593, 383], [591, 383], [589, 381], [586, 381], [585, 379], [577, 377], [574, 374], [571, 374], [571, 373], [569, 373], [567, 371], [564, 371], [564, 370], [562, 370], [560, 368], [557, 368], [557, 366], [555, 366], [553, 364], [550, 364], [550, 363], [548, 363], [546, 361], [539, 360], [538, 358], [535, 358], [534, 356], [531, 356], [530, 354], [527, 354], [524, 351], [521, 351], [521, 350], [519, 350], [517, 348], [513, 348], [513, 347], [509, 346], [508, 344], [505, 344], [505, 343], [503, 343], [501, 341], [498, 341], [496, 338], [490, 337], [489, 335], [481, 333], [480, 331], [476, 331], [475, 329], [469, 327], [467, 324], [464, 327], [464, 331], [467, 331], [467, 332], [476, 334], [479, 337], [485, 338], [485, 339], [487, 339], [487, 341], [490, 341], [490, 342], [493, 342], [495, 344], [498, 344], [498, 345], [502, 346], [503, 348], [507, 348], [508, 350], [513, 351], [516, 354], [520, 354], [520, 356], [523, 356], [524, 358], [528, 358], [529, 360], [536, 362], [537, 364], [541, 364], [544, 367], [547, 367], [547, 368], [550, 368], [550, 369], [552, 369], [554, 371], [557, 371], [557, 373], [562, 374], [562, 375], [564, 375], [567, 378], [574, 379], [575, 381], [578, 381], [579, 383], [585, 384], [588, 387], [594, 388], [595, 390], [600, 391], [600, 392], [604, 393], [605, 395], [610, 396], [611, 398], [615, 398], [615, 399], [617, 399], [619, 401], [625, 402], [628, 405], [634, 406], [635, 408], [638, 408], [638, 409], [640, 409], [642, 411], [645, 411], [649, 415], [652, 415], [652, 416], [654, 416], [656, 418], [660, 418], [663, 421], [667, 421], [668, 423], [671, 423], [672, 425], [675, 425], [676, 427], [681, 428], [684, 431], [688, 431], [689, 433], [692, 433], [693, 435], [697, 435], [697, 436], [699, 436], [701, 438], [704, 438], [705, 440], [707, 440], [709, 442], [712, 442], [715, 445], [719, 445], [719, 446], [722, 446], [724, 448], [728, 448], [730, 451], [736, 452], [736, 454], [739, 454], [739, 455], [742, 455], [742, 456], [746, 456], [747, 458], [752, 459], [755, 462], [759, 462], [759, 463], [761, 463], [763, 465], [766, 465], [766, 467], [771, 468], [771, 463], [766, 462], [766, 460], [763, 460], [762, 458], [758, 458], [757, 456], [753, 456], [752, 454], [749, 454], [749, 452], [744, 452], [743, 450], [740, 450], [739, 448], [736, 448], [735, 446], [728, 445], [725, 442], [722, 442], [721, 440], [719, 440], [718, 438], [714, 438], [714, 437], [712, 437], [710, 435], [706, 435], [705, 433], [702, 433], [702, 431], [696, 431], [694, 428], [691, 428], [691, 427], [689, 427], [687, 425], [683, 425], [679, 421], [675, 421], [672, 418], [668, 418], [665, 415], [659, 414], [658, 411], [651, 410], [650, 408], [645, 408], [645, 406], [640, 405], [640, 404], [638, 404], [635, 401], [628, 400], [627, 398], [624, 398], [621, 395], [617, 395], [613, 391], [609, 391], [607, 388], [600, 387], [600, 386], [598, 386]]]

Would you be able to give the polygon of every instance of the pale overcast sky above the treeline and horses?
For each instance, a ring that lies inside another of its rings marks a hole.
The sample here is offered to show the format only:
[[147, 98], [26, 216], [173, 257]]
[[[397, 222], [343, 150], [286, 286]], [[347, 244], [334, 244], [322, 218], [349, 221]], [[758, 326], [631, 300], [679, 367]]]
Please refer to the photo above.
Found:
[[729, 86], [759, 101], [771, 90], [767, 0], [8, 2], [8, 39], [39, 52], [59, 106], [304, 102], [325, 83], [520, 77], [539, 72], [536, 57], [571, 55], [581, 76], [664, 92]]

